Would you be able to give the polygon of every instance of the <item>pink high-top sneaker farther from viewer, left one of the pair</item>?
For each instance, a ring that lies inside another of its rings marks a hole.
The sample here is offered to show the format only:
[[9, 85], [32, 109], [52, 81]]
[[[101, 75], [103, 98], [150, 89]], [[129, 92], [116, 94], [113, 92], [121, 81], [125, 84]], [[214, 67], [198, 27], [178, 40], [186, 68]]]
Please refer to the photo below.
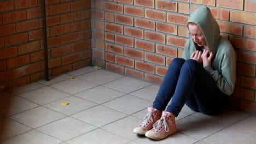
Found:
[[133, 133], [144, 135], [147, 131], [153, 128], [153, 124], [161, 118], [162, 112], [148, 107], [148, 114], [144, 118], [144, 122], [133, 129]]

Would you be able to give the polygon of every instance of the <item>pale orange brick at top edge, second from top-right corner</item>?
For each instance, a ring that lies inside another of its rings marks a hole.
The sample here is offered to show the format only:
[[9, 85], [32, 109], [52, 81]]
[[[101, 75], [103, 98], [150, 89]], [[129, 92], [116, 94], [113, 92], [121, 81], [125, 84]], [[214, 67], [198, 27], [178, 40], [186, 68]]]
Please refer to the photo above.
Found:
[[217, 6], [222, 8], [243, 10], [243, 0], [217, 1]]

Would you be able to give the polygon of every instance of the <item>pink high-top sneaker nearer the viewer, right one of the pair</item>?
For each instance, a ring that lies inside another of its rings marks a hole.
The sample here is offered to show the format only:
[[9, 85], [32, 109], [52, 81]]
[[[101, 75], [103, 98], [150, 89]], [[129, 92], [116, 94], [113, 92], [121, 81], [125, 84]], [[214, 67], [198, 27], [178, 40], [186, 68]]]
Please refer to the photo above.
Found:
[[153, 125], [153, 129], [149, 130], [145, 136], [154, 140], [161, 140], [176, 131], [175, 116], [170, 112], [163, 111], [162, 117]]

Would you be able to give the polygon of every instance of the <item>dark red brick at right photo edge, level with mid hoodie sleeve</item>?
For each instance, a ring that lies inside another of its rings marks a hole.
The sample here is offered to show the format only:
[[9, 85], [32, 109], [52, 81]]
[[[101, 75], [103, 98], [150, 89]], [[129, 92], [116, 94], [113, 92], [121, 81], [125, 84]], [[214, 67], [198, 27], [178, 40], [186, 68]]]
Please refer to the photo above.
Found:
[[248, 64], [237, 63], [236, 73], [248, 76], [255, 76], [255, 67]]

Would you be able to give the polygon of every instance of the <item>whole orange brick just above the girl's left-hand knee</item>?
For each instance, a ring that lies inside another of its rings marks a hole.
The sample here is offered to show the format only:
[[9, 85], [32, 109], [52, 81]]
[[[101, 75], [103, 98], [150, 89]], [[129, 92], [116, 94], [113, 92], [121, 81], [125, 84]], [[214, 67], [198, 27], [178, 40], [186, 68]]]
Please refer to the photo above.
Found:
[[156, 44], [156, 53], [160, 53], [161, 55], [166, 55], [170, 57], [177, 57], [178, 51], [177, 49], [169, 46]]

